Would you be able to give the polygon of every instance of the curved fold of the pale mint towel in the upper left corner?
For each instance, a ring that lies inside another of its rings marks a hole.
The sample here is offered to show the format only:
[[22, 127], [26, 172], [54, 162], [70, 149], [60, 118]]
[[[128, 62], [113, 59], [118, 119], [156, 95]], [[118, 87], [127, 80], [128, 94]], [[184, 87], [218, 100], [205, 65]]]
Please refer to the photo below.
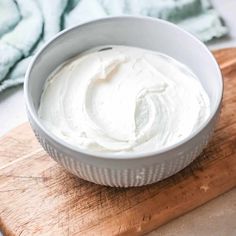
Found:
[[18, 60], [29, 55], [42, 32], [43, 21], [36, 2], [17, 0], [17, 4], [21, 20], [0, 39], [0, 81], [5, 79]]

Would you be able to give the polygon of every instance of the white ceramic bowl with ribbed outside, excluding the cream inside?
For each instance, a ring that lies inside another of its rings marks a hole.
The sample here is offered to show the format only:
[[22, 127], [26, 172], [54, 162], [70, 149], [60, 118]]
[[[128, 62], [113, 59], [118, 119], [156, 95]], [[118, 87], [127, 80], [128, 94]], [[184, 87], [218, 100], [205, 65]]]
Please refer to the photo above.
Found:
[[[65, 60], [100, 45], [128, 45], [165, 53], [190, 67], [210, 98], [211, 114], [189, 137], [145, 154], [113, 155], [81, 150], [55, 137], [41, 123], [37, 110], [48, 75]], [[32, 61], [25, 80], [29, 121], [49, 155], [78, 177], [109, 186], [151, 184], [190, 164], [207, 145], [219, 116], [223, 93], [220, 69], [198, 39], [174, 24], [148, 17], [110, 17], [63, 31]]]

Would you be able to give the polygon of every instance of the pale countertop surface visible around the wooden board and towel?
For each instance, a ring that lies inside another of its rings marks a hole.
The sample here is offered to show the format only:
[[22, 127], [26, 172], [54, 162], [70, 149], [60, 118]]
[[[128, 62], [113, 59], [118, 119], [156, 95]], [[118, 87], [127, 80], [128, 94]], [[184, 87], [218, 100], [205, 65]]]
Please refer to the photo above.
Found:
[[[223, 39], [215, 40], [208, 45], [209, 48], [236, 47], [236, 1], [214, 0], [213, 4], [228, 25], [230, 35]], [[9, 89], [0, 94], [0, 136], [25, 121], [27, 121], [27, 117], [22, 86]], [[236, 235], [236, 189], [169, 222], [149, 235]]]

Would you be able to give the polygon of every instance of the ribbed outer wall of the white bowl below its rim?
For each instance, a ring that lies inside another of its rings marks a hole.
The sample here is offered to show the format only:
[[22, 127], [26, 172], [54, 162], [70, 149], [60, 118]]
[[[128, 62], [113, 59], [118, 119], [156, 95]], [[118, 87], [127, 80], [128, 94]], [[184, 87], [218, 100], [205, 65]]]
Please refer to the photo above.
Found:
[[[183, 151], [176, 152], [175, 155], [169, 156], [162, 161], [159, 160], [158, 155], [154, 156], [156, 162], [145, 162], [140, 163], [139, 167], [136, 168], [117, 168], [115, 162], [111, 166], [101, 167], [97, 165], [97, 161], [92, 163], [86, 162], [86, 157], [83, 160], [78, 159], [73, 154], [66, 154], [65, 147], [57, 146], [53, 143], [53, 140], [48, 140], [47, 137], [42, 133], [40, 128], [31, 120], [31, 127], [37, 137], [38, 141], [45, 149], [45, 151], [61, 166], [63, 166], [70, 173], [78, 176], [81, 179], [112, 187], [134, 187], [152, 184], [163, 180], [180, 170], [184, 169], [189, 165], [206, 147], [211, 138], [214, 126], [216, 123], [218, 114], [209, 123], [209, 127], [206, 127], [201, 132], [197, 139], [193, 139], [190, 143], [185, 144], [181, 149]], [[200, 141], [199, 141], [200, 140]], [[174, 150], [173, 150], [174, 151]], [[78, 153], [77, 155], [82, 155]], [[145, 159], [145, 157], [143, 157]], [[120, 161], [126, 161], [122, 159]], [[138, 160], [135, 160], [136, 162]], [[137, 166], [137, 165], [136, 165]]]

